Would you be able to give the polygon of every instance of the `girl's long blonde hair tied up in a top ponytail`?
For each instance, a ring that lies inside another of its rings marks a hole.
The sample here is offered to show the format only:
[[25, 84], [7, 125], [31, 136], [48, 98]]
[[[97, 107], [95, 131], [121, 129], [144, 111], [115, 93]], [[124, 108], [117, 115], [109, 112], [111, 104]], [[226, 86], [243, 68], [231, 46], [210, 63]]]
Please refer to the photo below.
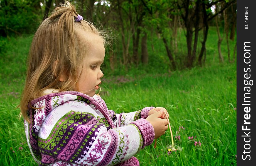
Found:
[[[59, 92], [74, 90], [79, 78], [78, 68], [82, 66], [80, 58], [87, 56], [87, 43], [81, 39], [81, 30], [98, 35], [105, 44], [104, 32], [99, 32], [92, 23], [81, 20], [75, 7], [65, 1], [56, 7], [52, 14], [41, 22], [35, 33], [27, 61], [26, 82], [19, 108], [21, 115], [29, 121], [28, 105], [44, 95], [46, 89], [58, 89]], [[88, 41], [89, 42], [89, 41]], [[59, 81], [65, 75], [63, 82]]]

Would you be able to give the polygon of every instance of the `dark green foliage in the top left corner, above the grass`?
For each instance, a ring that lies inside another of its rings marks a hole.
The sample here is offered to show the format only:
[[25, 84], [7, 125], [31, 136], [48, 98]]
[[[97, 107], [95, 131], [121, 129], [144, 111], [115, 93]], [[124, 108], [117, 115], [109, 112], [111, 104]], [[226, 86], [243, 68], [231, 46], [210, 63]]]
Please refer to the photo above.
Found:
[[[38, 7], [35, 7], [35, 4]], [[2, 0], [0, 3], [0, 36], [32, 33], [40, 23], [41, 15], [38, 9], [40, 9], [38, 0]]]

